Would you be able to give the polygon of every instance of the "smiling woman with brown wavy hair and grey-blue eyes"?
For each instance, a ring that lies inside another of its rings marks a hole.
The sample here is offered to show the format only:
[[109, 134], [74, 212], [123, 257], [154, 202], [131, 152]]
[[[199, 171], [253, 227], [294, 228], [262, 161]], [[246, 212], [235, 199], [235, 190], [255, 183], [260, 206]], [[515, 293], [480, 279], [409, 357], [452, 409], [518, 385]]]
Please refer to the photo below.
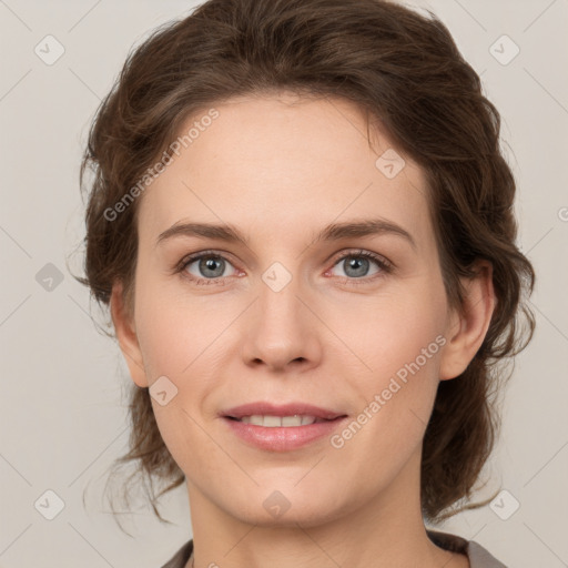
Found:
[[434, 16], [210, 0], [129, 58], [89, 165], [122, 462], [190, 499], [164, 568], [504, 566], [425, 528], [469, 500], [534, 328], [499, 114]]

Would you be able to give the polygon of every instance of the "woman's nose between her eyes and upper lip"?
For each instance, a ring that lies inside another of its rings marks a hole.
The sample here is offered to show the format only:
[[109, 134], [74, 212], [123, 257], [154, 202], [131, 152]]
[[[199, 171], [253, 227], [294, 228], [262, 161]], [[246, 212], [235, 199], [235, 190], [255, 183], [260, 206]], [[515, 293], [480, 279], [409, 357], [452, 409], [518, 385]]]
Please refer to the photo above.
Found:
[[320, 364], [322, 324], [298, 278], [276, 290], [260, 281], [258, 297], [243, 321], [244, 363], [274, 372], [305, 372]]

